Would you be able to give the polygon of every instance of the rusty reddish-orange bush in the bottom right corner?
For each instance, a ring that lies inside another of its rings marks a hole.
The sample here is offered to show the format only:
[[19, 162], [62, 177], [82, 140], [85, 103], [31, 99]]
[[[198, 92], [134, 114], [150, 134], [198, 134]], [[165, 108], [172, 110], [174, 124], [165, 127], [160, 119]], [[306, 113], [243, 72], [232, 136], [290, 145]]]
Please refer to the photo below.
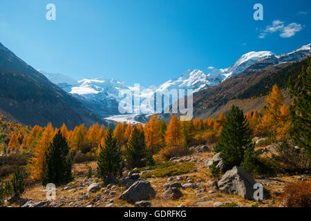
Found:
[[287, 207], [311, 206], [311, 182], [299, 181], [285, 186], [282, 202]]

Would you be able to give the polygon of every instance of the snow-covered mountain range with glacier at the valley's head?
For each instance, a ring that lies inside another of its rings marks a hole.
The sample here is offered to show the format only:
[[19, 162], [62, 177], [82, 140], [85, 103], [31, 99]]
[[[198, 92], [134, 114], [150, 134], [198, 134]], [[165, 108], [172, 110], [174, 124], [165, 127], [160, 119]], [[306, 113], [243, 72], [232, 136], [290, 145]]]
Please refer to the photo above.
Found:
[[[252, 51], [242, 55], [229, 68], [211, 68], [207, 73], [203, 73], [202, 70], [198, 69], [187, 70], [187, 72], [176, 79], [170, 79], [158, 87], [151, 86], [150, 88], [142, 88], [141, 86], [138, 88], [137, 85], [127, 86], [124, 82], [117, 79], [106, 79], [104, 77], [75, 81], [64, 75], [51, 75], [44, 71], [41, 71], [41, 73], [46, 75], [53, 83], [61, 86], [66, 92], [77, 97], [77, 99], [90, 108], [91, 111], [102, 117], [120, 115], [119, 104], [123, 105], [126, 104], [126, 102], [131, 102], [133, 104], [133, 114], [150, 114], [155, 111], [151, 104], [155, 104], [153, 99], [156, 97], [157, 93], [161, 94], [172, 89], [191, 89], [193, 93], [196, 93], [210, 86], [216, 86], [220, 84], [220, 82], [225, 81], [225, 79], [242, 73], [245, 70], [260, 70], [270, 65], [299, 61], [306, 55], [310, 55], [310, 52], [310, 44], [283, 55], [275, 55], [270, 51]], [[129, 91], [131, 93], [139, 91], [140, 102], [135, 103], [133, 100], [124, 101], [124, 97], [120, 96], [123, 95], [122, 91], [123, 93], [124, 91]], [[164, 109], [167, 109], [169, 105], [175, 103], [178, 99], [173, 96], [171, 98], [165, 98], [171, 100], [169, 104], [164, 104]], [[120, 117], [118, 117], [118, 119], [119, 118]]]

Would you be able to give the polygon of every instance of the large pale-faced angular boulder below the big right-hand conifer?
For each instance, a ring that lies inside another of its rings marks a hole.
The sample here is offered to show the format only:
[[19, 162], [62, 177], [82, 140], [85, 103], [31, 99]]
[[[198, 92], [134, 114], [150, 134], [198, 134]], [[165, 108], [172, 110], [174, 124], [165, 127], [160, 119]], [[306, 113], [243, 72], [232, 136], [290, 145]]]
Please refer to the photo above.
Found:
[[254, 178], [249, 175], [241, 166], [234, 166], [227, 171], [221, 180], [218, 181], [218, 188], [224, 193], [239, 195], [247, 200], [254, 200]]

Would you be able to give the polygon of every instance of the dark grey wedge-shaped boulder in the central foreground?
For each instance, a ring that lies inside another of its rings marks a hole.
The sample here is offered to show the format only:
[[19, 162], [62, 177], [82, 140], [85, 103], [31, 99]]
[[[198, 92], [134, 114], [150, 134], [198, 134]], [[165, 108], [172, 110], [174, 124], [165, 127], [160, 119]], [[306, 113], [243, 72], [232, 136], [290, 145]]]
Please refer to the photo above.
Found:
[[141, 200], [149, 200], [150, 198], [154, 198], [155, 195], [156, 192], [152, 188], [150, 182], [147, 180], [139, 180], [124, 191], [119, 199], [135, 203]]

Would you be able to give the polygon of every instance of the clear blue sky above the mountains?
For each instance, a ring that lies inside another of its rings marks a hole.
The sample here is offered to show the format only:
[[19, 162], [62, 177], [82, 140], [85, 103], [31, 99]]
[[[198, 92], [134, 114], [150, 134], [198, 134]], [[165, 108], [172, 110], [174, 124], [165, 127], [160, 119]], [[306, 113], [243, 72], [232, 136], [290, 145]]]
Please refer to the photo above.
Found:
[[[46, 20], [46, 5], [56, 21]], [[255, 3], [263, 21], [253, 19]], [[0, 42], [34, 68], [74, 79], [159, 85], [189, 68], [227, 68], [246, 52], [311, 39], [310, 1], [0, 1]]]

